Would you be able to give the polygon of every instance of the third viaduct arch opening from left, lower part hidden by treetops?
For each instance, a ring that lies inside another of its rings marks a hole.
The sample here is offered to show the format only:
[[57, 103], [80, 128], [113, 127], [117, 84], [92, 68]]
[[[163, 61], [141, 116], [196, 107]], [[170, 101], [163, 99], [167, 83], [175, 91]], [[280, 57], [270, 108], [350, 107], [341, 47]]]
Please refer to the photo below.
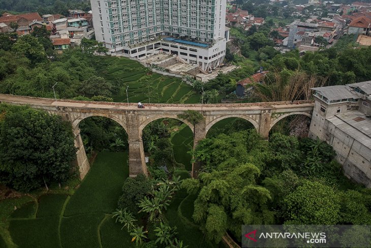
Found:
[[242, 130], [259, 130], [259, 125], [253, 119], [241, 116], [224, 116], [206, 125], [206, 137], [214, 137], [219, 133], [229, 134]]

